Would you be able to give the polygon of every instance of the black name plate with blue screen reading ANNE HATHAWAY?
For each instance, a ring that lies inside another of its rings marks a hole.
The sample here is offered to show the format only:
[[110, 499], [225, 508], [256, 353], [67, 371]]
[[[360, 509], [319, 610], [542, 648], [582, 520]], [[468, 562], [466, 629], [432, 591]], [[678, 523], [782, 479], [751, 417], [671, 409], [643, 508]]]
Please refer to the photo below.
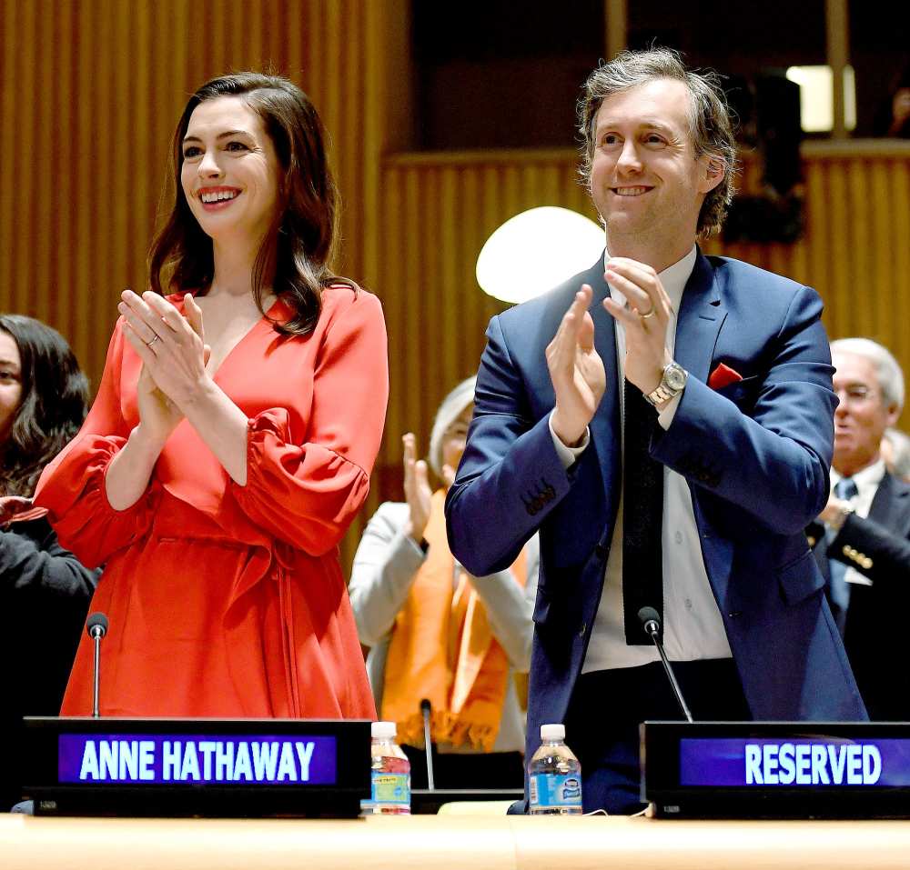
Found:
[[38, 814], [353, 817], [369, 722], [26, 717]]

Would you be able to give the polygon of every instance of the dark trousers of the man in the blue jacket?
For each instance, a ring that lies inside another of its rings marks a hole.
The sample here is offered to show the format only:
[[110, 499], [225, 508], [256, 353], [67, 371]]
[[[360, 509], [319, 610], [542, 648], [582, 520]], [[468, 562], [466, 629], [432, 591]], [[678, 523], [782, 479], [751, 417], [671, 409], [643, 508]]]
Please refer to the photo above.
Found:
[[[696, 722], [752, 718], [733, 659], [674, 662], [672, 667]], [[660, 662], [579, 677], [565, 725], [566, 743], [581, 762], [584, 812], [630, 815], [644, 808], [638, 726], [646, 719], [685, 719]]]

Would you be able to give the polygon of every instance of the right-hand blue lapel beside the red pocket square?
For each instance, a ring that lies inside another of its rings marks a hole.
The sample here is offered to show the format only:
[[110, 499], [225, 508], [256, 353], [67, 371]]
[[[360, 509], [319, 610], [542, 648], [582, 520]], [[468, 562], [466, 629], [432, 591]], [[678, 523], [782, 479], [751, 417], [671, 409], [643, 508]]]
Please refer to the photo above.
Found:
[[682, 291], [673, 357], [693, 377], [708, 382], [717, 335], [727, 316], [711, 263], [701, 252]]

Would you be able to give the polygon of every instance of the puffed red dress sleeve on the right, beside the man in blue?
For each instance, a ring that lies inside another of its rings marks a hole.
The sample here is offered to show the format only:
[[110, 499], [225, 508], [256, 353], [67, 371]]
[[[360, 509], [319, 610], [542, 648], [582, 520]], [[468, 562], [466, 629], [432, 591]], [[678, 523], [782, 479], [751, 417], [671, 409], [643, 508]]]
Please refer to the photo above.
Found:
[[248, 422], [247, 483], [230, 483], [248, 518], [310, 555], [337, 546], [369, 492], [389, 399], [386, 327], [379, 300], [360, 291], [333, 314], [313, 373], [302, 444], [284, 408]]

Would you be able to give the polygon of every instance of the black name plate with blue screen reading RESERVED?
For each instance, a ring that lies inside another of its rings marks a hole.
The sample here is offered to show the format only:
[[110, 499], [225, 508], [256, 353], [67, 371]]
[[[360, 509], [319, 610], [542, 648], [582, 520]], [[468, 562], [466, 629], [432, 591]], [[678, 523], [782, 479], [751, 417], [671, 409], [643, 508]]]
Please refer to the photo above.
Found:
[[665, 817], [910, 817], [910, 723], [646, 722]]

